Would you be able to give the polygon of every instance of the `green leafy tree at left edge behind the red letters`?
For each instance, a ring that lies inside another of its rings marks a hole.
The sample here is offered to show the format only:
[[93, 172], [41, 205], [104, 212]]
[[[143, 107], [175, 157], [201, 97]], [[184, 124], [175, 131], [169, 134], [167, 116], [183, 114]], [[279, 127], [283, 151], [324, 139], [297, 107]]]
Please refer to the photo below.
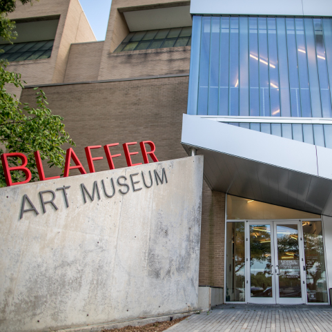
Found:
[[[32, 3], [32, 0], [20, 0], [21, 3]], [[0, 0], [0, 37], [12, 42], [17, 35], [14, 32], [14, 22], [10, 21], [6, 14], [15, 8], [15, 1]], [[33, 153], [39, 150], [41, 159], [48, 159], [50, 167], [64, 166], [64, 153], [61, 148], [64, 144], [75, 143], [66, 133], [63, 124], [64, 118], [53, 115], [48, 108], [48, 101], [43, 90], [37, 90], [37, 108], [28, 104], [21, 104], [16, 95], [7, 92], [6, 87], [13, 84], [16, 88], [23, 88], [21, 75], [6, 70], [6, 61], [0, 61], [0, 155], [4, 153], [21, 152], [28, 157], [27, 167], [31, 170], [32, 180], [38, 179], [37, 165]], [[19, 166], [20, 159], [8, 159], [10, 166]], [[13, 182], [19, 182], [24, 176], [21, 172], [12, 172]], [[0, 164], [0, 187], [6, 186], [2, 164]]]

